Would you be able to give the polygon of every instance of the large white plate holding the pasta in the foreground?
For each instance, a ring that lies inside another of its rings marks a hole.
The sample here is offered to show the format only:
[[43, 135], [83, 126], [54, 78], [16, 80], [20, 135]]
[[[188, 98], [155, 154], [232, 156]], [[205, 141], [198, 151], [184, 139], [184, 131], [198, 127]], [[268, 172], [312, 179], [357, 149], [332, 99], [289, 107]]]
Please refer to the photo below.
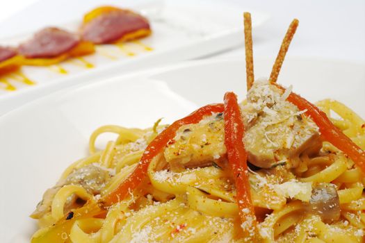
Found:
[[[268, 76], [272, 60], [256, 58], [257, 77]], [[334, 60], [286, 60], [284, 85], [310, 101], [338, 99], [365, 116], [365, 67]], [[74, 160], [86, 156], [98, 126], [152, 126], [171, 122], [206, 103], [222, 102], [225, 91], [245, 95], [244, 60], [188, 62], [116, 76], [56, 92], [0, 118], [1, 242], [29, 242], [35, 221], [28, 215], [48, 187]], [[104, 137], [104, 140], [106, 137]], [[103, 142], [103, 139], [99, 141]]]

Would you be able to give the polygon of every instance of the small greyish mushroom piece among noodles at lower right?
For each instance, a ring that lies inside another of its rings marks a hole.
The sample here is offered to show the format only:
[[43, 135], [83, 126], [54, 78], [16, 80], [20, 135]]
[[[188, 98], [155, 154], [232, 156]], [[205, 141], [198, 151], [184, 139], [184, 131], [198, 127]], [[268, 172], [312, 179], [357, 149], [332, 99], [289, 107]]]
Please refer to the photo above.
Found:
[[316, 185], [309, 201], [313, 213], [321, 216], [323, 222], [329, 224], [340, 217], [340, 201], [336, 187], [331, 183]]

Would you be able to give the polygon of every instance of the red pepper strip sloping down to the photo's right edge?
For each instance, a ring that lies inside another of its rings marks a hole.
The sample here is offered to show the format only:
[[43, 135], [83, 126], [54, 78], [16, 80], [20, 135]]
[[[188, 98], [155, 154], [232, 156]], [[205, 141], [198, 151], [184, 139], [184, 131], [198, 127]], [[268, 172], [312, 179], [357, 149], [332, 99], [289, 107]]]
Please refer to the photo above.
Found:
[[[284, 87], [276, 83], [274, 83], [274, 85], [279, 87], [280, 90], [284, 90]], [[365, 151], [360, 149], [359, 146], [352, 142], [350, 137], [343, 134], [339, 128], [334, 126], [332, 121], [328, 119], [325, 112], [293, 92], [289, 94], [287, 100], [297, 106], [299, 110], [307, 110], [305, 115], [311, 117], [311, 119], [313, 119], [313, 121], [317, 124], [323, 140], [330, 142], [337, 149], [346, 153], [365, 174]]]

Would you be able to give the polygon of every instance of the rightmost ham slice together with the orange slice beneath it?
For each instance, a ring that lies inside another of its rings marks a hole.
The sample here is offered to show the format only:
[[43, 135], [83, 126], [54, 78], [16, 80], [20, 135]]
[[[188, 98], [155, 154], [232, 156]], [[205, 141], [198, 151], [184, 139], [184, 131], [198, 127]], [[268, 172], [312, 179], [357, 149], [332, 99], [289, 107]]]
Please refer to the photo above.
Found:
[[135, 40], [151, 33], [145, 17], [130, 10], [101, 7], [85, 15], [81, 26], [83, 40], [95, 44]]

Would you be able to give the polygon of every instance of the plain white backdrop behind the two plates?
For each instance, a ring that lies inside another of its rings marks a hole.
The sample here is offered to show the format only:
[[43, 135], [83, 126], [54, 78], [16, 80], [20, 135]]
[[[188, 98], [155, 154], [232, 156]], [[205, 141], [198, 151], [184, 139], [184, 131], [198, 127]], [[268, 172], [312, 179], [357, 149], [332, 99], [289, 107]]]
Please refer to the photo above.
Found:
[[[33, 31], [34, 28], [42, 26], [63, 24], [80, 19], [83, 12], [98, 5], [114, 3], [133, 7], [146, 1], [0, 0], [0, 38]], [[148, 0], [149, 3], [161, 1]], [[273, 56], [275, 58], [286, 28], [296, 17], [300, 20], [300, 26], [288, 56], [365, 62], [364, 0], [225, 0], [225, 2], [236, 3], [242, 6], [243, 10], [250, 8], [270, 15], [268, 22], [254, 30], [255, 56]], [[243, 49], [238, 49], [219, 56], [242, 57], [243, 54]]]

